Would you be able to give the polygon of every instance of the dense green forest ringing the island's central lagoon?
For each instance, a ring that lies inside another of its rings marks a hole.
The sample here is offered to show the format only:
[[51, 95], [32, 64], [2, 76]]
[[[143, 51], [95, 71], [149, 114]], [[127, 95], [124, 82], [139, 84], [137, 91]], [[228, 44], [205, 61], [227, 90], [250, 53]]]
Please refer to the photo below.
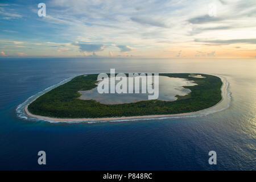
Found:
[[94, 100], [80, 100], [80, 90], [90, 90], [97, 85], [98, 75], [77, 76], [66, 84], [43, 94], [28, 105], [32, 114], [55, 118], [104, 118], [135, 115], [178, 114], [206, 109], [221, 100], [221, 79], [189, 77], [188, 73], [160, 73], [159, 76], [179, 77], [195, 81], [198, 85], [188, 96], [178, 96], [176, 101], [148, 100], [130, 104], [105, 105]]

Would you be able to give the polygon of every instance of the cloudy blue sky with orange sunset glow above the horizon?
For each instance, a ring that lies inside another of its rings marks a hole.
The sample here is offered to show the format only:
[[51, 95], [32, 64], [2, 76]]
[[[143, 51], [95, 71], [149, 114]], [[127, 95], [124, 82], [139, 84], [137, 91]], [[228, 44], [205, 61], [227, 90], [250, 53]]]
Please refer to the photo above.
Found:
[[254, 59], [256, 1], [0, 0], [0, 57], [94, 56]]

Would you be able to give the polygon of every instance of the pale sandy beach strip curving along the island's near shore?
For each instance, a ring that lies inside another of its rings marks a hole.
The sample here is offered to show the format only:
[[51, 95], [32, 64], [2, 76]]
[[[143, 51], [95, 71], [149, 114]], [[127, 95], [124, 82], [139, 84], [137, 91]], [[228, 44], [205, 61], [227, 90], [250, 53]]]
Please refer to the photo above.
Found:
[[[218, 76], [219, 77], [219, 76]], [[219, 77], [221, 78], [221, 77]], [[28, 105], [30, 105], [32, 102], [34, 102], [38, 97], [36, 97], [34, 100], [30, 101], [25, 107], [24, 107], [24, 113], [26, 115], [28, 115], [29, 117], [32, 118], [36, 118], [36, 119], [42, 119], [42, 120], [46, 120], [46, 121], [55, 121], [55, 122], [77, 122], [77, 121], [84, 121], [84, 122], [92, 122], [92, 121], [117, 121], [117, 120], [126, 120], [126, 119], [150, 119], [150, 118], [163, 118], [163, 117], [184, 117], [187, 115], [191, 115], [191, 114], [197, 114], [197, 113], [201, 113], [202, 111], [206, 111], [209, 109], [212, 109], [213, 107], [216, 107], [217, 105], [219, 105], [223, 100], [224, 100], [224, 87], [225, 87], [225, 82], [223, 80], [223, 78], [221, 78], [222, 81], [222, 86], [221, 86], [221, 100], [216, 104], [213, 105], [211, 107], [208, 107], [206, 109], [202, 109], [202, 110], [198, 110], [195, 112], [190, 112], [190, 113], [180, 113], [180, 114], [159, 114], [159, 115], [138, 115], [138, 116], [130, 116], [130, 117], [110, 117], [110, 118], [51, 118], [51, 117], [45, 117], [42, 115], [35, 115], [30, 113], [30, 111], [28, 111], [27, 107]]]

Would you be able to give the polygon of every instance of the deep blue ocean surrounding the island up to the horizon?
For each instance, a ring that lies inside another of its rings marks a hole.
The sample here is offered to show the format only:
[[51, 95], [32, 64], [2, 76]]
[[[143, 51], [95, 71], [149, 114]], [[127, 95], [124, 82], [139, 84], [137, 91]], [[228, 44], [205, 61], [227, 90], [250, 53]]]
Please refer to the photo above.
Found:
[[[200, 117], [105, 123], [19, 118], [28, 97], [80, 74], [218, 74], [229, 82], [227, 109]], [[0, 59], [1, 170], [255, 170], [256, 60], [142, 58]], [[38, 151], [47, 164], [38, 164]], [[209, 165], [208, 152], [217, 152]]]

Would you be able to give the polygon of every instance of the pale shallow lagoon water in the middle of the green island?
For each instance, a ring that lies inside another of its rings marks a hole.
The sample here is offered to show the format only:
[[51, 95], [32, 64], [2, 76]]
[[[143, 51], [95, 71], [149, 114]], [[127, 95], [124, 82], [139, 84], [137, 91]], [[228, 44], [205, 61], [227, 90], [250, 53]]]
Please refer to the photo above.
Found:
[[[123, 79], [123, 78], [121, 78]], [[152, 78], [153, 88], [154, 88], [154, 78]], [[115, 81], [117, 85], [119, 81]], [[147, 80], [141, 79], [139, 82], [139, 89], [135, 90], [135, 79], [133, 79], [133, 93], [98, 93], [97, 87], [92, 90], [80, 91], [82, 96], [81, 100], [96, 100], [101, 104], [123, 104], [123, 103], [133, 103], [138, 101], [147, 101], [148, 95], [152, 95], [148, 92], [142, 93], [142, 85], [147, 88]], [[110, 79], [109, 79], [110, 85]], [[177, 100], [176, 95], [185, 96], [191, 92], [191, 90], [184, 88], [183, 86], [193, 86], [196, 85], [195, 82], [186, 80], [184, 78], [171, 78], [167, 76], [159, 76], [159, 93], [158, 100], [162, 101], [175, 101]], [[129, 82], [127, 79], [127, 92], [128, 92]], [[110, 89], [110, 86], [109, 86]], [[146, 90], [147, 91], [147, 90]]]

